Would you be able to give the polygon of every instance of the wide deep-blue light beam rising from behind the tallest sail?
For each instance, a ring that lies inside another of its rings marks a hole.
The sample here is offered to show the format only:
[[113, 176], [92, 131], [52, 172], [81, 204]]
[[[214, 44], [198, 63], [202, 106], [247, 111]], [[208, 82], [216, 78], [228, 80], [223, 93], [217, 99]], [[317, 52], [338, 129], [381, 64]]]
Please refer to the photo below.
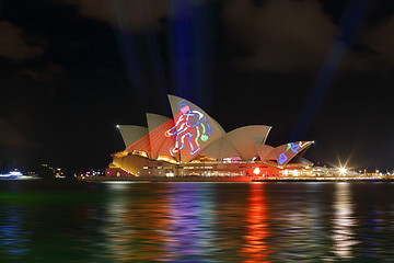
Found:
[[167, 9], [175, 93], [209, 108], [208, 1], [170, 0]]

